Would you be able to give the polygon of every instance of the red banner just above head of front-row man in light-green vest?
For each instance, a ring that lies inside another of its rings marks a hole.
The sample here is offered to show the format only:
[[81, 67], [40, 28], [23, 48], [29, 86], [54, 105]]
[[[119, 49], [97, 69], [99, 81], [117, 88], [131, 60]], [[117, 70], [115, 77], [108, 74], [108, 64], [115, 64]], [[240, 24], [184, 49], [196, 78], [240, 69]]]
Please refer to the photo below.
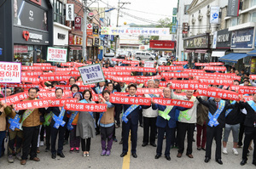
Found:
[[186, 89], [186, 90], [197, 90], [197, 89], [207, 89], [208, 84], [206, 83], [191, 83], [191, 82], [172, 82], [172, 88], [175, 89]]

